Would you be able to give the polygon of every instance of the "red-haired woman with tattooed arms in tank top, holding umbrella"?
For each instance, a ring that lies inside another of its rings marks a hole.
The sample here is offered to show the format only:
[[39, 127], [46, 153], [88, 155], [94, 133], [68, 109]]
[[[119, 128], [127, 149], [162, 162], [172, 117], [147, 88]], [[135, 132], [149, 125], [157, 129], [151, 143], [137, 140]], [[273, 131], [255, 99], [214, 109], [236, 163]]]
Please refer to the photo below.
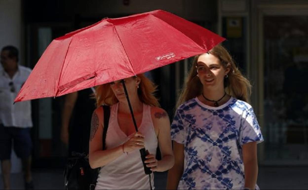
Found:
[[[159, 108], [154, 97], [154, 84], [143, 74], [124, 79], [136, 118], [136, 133], [123, 84], [115, 81], [96, 89], [97, 105], [110, 105], [111, 115], [103, 150], [103, 109], [98, 107], [92, 116], [89, 162], [99, 168], [95, 189], [150, 189], [153, 173], [144, 173], [139, 150], [146, 148], [149, 155], [145, 163], [151, 171], [163, 172], [172, 168], [170, 121], [166, 111]], [[157, 144], [162, 159], [156, 160]]]

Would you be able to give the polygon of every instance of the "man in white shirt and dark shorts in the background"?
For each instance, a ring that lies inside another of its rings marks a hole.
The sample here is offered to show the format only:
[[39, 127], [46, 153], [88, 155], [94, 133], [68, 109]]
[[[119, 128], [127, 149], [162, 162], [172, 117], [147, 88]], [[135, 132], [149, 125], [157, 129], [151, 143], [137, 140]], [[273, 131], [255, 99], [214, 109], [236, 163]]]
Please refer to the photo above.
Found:
[[22, 160], [25, 189], [34, 189], [31, 176], [32, 141], [30, 101], [14, 99], [30, 75], [31, 69], [18, 65], [18, 49], [5, 46], [0, 66], [0, 160], [4, 189], [10, 189], [11, 150]]

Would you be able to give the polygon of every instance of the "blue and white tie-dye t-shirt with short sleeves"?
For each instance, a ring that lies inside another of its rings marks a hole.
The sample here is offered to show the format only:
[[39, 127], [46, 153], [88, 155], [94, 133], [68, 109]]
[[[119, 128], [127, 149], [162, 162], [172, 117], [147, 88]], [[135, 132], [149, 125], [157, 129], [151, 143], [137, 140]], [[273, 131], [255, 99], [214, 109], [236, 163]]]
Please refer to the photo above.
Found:
[[178, 189], [243, 189], [242, 145], [263, 141], [253, 108], [233, 97], [219, 107], [198, 98], [183, 103], [174, 116], [171, 138], [184, 144]]

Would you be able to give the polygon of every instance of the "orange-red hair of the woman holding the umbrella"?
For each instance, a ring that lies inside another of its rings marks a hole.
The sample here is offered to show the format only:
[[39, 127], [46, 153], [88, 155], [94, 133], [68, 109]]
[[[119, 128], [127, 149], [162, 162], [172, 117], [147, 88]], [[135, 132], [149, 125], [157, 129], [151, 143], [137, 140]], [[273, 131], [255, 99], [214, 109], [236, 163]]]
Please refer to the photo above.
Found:
[[[137, 90], [139, 99], [141, 102], [148, 104], [150, 106], [160, 107], [157, 98], [154, 96], [157, 86], [152, 83], [144, 74], [137, 75], [139, 77], [140, 83]], [[118, 103], [119, 100], [115, 97], [115, 94], [111, 90], [110, 84], [102, 84], [96, 87], [96, 106], [101, 105], [113, 105]]]

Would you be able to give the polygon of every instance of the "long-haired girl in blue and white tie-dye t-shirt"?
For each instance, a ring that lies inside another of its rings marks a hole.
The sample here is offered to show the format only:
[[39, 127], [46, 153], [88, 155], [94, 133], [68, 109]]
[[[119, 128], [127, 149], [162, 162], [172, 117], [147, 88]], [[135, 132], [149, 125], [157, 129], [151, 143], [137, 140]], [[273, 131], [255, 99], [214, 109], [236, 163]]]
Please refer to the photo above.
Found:
[[251, 85], [221, 45], [197, 55], [171, 125], [167, 189], [255, 189], [263, 141]]

